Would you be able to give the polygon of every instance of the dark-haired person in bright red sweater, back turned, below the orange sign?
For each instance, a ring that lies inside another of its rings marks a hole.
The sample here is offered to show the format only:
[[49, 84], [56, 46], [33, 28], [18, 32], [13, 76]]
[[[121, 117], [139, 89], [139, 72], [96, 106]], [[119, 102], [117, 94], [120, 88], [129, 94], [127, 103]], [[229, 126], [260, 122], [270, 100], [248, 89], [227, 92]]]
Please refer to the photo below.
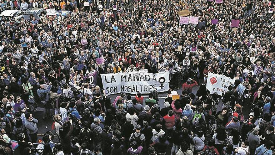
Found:
[[173, 127], [175, 126], [176, 121], [173, 110], [169, 110], [168, 114], [166, 116], [163, 116], [163, 120], [165, 133], [169, 136], [173, 131]]

